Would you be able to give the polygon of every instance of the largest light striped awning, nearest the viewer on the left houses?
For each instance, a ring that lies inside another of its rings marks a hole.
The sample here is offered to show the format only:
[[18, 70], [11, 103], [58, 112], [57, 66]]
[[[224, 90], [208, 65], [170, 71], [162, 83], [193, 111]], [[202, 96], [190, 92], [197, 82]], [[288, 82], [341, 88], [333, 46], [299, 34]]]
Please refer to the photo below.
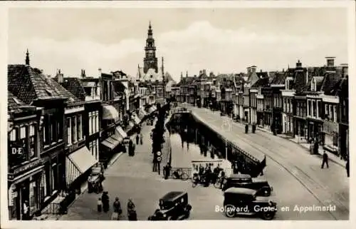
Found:
[[91, 166], [94, 166], [98, 161], [90, 153], [88, 148], [83, 147], [67, 156], [66, 171], [67, 185], [73, 183], [80, 174], [85, 173]]

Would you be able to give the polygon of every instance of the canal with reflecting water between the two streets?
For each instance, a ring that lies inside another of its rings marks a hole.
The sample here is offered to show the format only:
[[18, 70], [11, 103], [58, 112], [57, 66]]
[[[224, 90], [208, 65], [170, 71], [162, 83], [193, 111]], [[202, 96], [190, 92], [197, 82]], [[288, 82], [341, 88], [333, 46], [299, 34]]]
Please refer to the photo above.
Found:
[[226, 142], [192, 113], [174, 113], [167, 129], [172, 148], [172, 168], [188, 169], [194, 166], [194, 162], [216, 162], [225, 167], [229, 165], [231, 173], [247, 173], [256, 177], [266, 166], [266, 161], [248, 157], [248, 153]]

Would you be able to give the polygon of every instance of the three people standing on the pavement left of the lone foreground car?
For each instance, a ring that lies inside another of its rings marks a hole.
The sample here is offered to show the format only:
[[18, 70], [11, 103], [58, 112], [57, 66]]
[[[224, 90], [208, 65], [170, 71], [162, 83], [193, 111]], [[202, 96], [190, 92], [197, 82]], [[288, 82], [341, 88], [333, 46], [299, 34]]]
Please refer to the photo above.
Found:
[[[115, 198], [114, 203], [112, 203], [112, 208], [114, 212], [111, 215], [111, 220], [119, 220], [122, 214], [121, 203], [118, 197]], [[110, 199], [108, 191], [103, 192], [101, 198], [98, 199], [98, 212], [107, 213], [110, 209]], [[135, 203], [131, 199], [127, 201], [127, 218], [130, 221], [137, 220]]]

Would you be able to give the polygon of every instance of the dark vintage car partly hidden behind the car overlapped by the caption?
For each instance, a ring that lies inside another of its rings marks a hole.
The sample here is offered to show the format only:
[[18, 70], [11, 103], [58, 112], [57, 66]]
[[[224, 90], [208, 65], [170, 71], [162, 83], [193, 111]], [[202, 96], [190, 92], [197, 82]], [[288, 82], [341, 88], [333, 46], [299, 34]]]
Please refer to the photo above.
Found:
[[257, 195], [269, 196], [273, 188], [267, 180], [261, 178], [251, 178], [248, 174], [233, 174], [226, 179], [222, 190], [228, 188], [250, 188], [257, 190]]

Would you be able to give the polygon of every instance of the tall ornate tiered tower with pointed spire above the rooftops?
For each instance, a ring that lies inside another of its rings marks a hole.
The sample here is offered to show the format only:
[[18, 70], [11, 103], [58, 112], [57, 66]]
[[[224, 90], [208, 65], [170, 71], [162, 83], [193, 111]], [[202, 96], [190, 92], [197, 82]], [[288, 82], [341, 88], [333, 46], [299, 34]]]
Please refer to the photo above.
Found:
[[151, 21], [148, 26], [148, 33], [145, 46], [145, 58], [143, 58], [143, 72], [147, 73], [148, 69], [153, 68], [158, 73], [158, 63], [156, 57], [155, 39], [153, 39]]

